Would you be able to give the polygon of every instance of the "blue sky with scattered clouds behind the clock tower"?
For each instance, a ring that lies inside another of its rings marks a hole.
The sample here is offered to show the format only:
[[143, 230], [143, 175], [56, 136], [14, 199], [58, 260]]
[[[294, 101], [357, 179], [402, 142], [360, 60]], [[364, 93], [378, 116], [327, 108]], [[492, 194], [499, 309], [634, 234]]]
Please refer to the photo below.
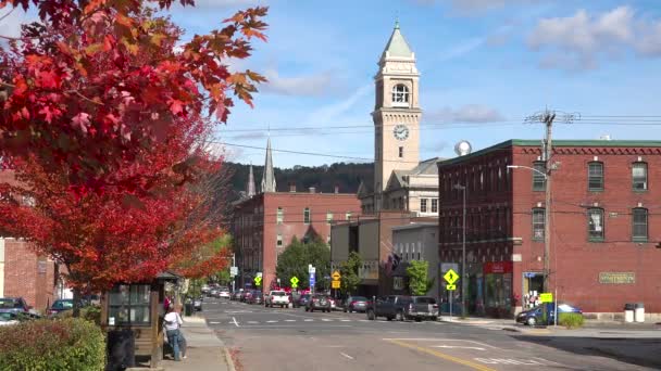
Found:
[[523, 121], [546, 106], [582, 116], [558, 123], [557, 139], [661, 132], [661, 125], [634, 125], [661, 124], [659, 0], [197, 2], [198, 9], [173, 9], [190, 34], [216, 28], [235, 10], [270, 7], [269, 42], [255, 42], [249, 61], [233, 64], [270, 82], [254, 108], [238, 104], [217, 130], [220, 141], [245, 145], [225, 145], [232, 161], [263, 164], [267, 128], [275, 150], [338, 156], [276, 151], [278, 167], [372, 158], [373, 76], [397, 17], [422, 74], [421, 158], [453, 156], [462, 139], [482, 149], [541, 138], [541, 125]]

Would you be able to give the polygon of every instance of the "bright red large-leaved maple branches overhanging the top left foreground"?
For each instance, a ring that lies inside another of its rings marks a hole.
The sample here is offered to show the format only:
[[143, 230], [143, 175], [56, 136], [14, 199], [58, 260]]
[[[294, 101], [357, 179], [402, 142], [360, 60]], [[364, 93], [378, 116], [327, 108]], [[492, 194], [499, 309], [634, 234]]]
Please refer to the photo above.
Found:
[[252, 38], [265, 40], [266, 8], [239, 11], [224, 28], [183, 42], [183, 30], [149, 8], [172, 2], [0, 0], [0, 9], [36, 7], [40, 18], [0, 47], [0, 154], [64, 168], [80, 192], [149, 191], [139, 175], [114, 170], [144, 161], [176, 118], [226, 121], [227, 92], [252, 105], [254, 84], [265, 79], [230, 73], [226, 63], [249, 56]]

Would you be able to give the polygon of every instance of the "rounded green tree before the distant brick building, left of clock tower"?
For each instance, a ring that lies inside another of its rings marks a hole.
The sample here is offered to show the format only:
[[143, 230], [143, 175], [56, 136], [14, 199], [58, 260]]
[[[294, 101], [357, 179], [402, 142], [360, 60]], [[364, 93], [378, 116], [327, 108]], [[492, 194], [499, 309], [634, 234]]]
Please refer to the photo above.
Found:
[[280, 284], [289, 285], [289, 280], [296, 277], [299, 279], [299, 289], [309, 287], [309, 264], [316, 268], [315, 287], [324, 289], [327, 285], [325, 277], [330, 274], [330, 248], [320, 239], [304, 243], [295, 236], [277, 258], [275, 272]]

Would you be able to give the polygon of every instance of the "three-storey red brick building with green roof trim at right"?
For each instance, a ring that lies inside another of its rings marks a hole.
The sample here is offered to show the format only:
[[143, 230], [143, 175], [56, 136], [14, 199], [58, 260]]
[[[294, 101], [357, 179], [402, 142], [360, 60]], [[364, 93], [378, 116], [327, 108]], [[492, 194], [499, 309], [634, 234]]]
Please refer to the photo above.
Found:
[[[438, 163], [439, 257], [461, 261], [466, 192], [469, 311], [510, 316], [544, 281], [544, 169], [538, 140], [510, 140]], [[661, 141], [554, 141], [550, 291], [585, 312], [625, 303], [661, 314]]]

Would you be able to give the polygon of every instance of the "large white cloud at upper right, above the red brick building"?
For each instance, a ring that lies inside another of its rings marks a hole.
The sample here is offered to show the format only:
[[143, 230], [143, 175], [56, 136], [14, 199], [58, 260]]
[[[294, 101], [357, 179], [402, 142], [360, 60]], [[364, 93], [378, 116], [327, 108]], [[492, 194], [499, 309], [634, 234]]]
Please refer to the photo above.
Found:
[[590, 69], [601, 57], [620, 57], [632, 50], [661, 56], [661, 21], [636, 20], [629, 7], [598, 15], [578, 10], [572, 16], [540, 20], [527, 44], [544, 53], [545, 68]]

